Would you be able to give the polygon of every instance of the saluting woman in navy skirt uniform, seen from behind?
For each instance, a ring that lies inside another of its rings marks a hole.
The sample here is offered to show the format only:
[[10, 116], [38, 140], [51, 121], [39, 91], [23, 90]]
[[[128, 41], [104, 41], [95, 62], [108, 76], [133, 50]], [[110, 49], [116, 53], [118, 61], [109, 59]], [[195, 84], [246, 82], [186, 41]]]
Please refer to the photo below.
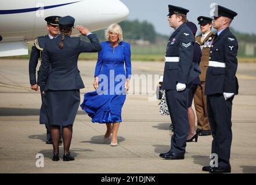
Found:
[[[102, 49], [95, 34], [78, 26], [82, 35], [87, 35], [91, 43], [80, 37], [71, 37], [75, 19], [71, 16], [60, 18], [61, 34], [56, 39], [47, 40], [42, 57], [43, 100], [47, 105], [47, 116], [51, 124], [53, 140], [53, 161], [59, 161], [60, 126], [63, 127], [63, 161], [73, 161], [70, 145], [73, 123], [80, 105], [80, 88], [84, 88], [77, 62], [80, 53], [98, 52]], [[49, 71], [52, 66], [51, 71]]]

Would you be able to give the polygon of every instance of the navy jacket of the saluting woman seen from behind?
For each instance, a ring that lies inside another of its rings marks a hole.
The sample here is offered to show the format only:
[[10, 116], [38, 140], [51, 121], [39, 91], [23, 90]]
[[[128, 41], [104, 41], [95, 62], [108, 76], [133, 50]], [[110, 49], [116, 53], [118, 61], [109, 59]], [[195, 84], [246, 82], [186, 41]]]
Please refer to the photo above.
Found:
[[84, 88], [77, 67], [78, 56], [82, 52], [97, 52], [102, 49], [95, 34], [88, 35], [91, 43], [84, 42], [79, 37], [72, 38], [66, 35], [63, 49], [59, 48], [61, 39], [62, 35], [59, 35], [55, 39], [47, 40], [42, 52], [41, 81], [44, 91]]

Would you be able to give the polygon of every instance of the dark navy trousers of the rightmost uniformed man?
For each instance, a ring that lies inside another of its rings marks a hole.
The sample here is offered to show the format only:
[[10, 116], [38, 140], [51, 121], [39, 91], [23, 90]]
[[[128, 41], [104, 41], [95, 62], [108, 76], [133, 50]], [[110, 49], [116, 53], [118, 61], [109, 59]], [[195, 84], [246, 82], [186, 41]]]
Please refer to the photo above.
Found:
[[218, 154], [218, 166], [230, 168], [230, 148], [232, 143], [232, 101], [223, 94], [207, 95], [208, 119], [213, 137], [211, 153]]

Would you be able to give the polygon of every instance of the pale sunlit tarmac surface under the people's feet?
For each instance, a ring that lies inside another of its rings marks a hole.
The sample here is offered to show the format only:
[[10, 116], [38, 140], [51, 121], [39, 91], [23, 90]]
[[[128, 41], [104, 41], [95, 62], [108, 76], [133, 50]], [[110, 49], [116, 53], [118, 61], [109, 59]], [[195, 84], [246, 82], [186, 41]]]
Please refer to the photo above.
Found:
[[[81, 90], [81, 102], [85, 92], [93, 91], [94, 68], [95, 61], [79, 62], [86, 86]], [[149, 75], [162, 75], [163, 69], [163, 62], [132, 62], [132, 73], [148, 79]], [[256, 173], [256, 64], [239, 64], [237, 77], [230, 164], [232, 173]], [[80, 108], [70, 148], [75, 161], [63, 162], [60, 146], [61, 160], [53, 162], [52, 145], [45, 144], [45, 126], [39, 125], [41, 97], [30, 90], [28, 60], [0, 59], [0, 173], [208, 173], [201, 168], [210, 164], [211, 136], [187, 143], [185, 160], [158, 157], [170, 149], [172, 132], [168, 129], [170, 117], [158, 114], [153, 84], [147, 94], [127, 95], [117, 147], [103, 143], [106, 126], [92, 124]], [[141, 89], [148, 86], [140, 84]], [[38, 153], [44, 155], [43, 168], [36, 166]]]

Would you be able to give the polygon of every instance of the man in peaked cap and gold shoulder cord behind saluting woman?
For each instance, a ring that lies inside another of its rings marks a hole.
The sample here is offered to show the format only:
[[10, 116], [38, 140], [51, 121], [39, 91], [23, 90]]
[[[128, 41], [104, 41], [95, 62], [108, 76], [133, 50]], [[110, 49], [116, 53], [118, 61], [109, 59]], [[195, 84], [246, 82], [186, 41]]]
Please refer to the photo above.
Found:
[[[49, 16], [45, 18], [45, 21], [47, 22], [46, 28], [48, 29], [49, 33], [45, 36], [39, 36], [35, 39], [35, 43], [32, 47], [31, 54], [30, 54], [30, 62], [29, 62], [29, 74], [30, 74], [30, 84], [31, 89], [37, 91], [38, 86], [41, 86], [41, 80], [40, 80], [40, 71], [41, 66], [39, 67], [38, 71], [38, 79], [36, 80], [36, 69], [38, 65], [38, 60], [42, 61], [42, 51], [44, 49], [44, 45], [46, 40], [56, 38], [59, 34], [59, 18], [60, 16]], [[41, 91], [41, 100], [42, 100], [42, 90]], [[49, 121], [46, 116], [46, 106], [44, 104], [44, 101], [42, 101], [41, 110], [40, 110], [40, 124], [45, 124], [46, 128], [46, 144], [52, 144], [52, 138], [51, 138], [51, 132], [50, 132], [50, 125]], [[60, 143], [62, 143], [62, 139], [60, 139]]]

